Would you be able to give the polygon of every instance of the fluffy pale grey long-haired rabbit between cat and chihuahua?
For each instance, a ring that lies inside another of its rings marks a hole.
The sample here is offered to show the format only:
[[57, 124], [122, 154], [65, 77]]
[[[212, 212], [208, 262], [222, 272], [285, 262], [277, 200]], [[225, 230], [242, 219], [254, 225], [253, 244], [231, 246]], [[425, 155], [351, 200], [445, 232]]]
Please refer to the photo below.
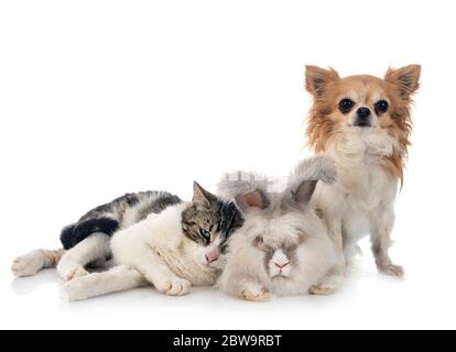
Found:
[[335, 243], [310, 204], [318, 180], [330, 184], [330, 158], [316, 155], [300, 163], [285, 190], [268, 193], [271, 182], [222, 180], [220, 196], [235, 198], [245, 226], [229, 240], [227, 265], [217, 286], [231, 296], [263, 301], [278, 296], [332, 294], [319, 282], [337, 265]]

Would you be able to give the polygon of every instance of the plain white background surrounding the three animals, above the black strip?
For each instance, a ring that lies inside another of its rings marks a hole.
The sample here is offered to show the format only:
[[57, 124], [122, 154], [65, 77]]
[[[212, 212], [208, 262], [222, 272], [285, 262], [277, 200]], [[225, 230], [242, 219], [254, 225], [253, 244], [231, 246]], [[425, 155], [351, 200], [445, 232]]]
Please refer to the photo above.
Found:
[[[1, 1], [0, 328], [456, 328], [454, 1]], [[306, 154], [304, 65], [423, 66], [391, 254], [332, 297], [239, 301], [137, 289], [58, 298], [14, 256], [126, 191], [189, 198], [224, 172], [286, 174]]]

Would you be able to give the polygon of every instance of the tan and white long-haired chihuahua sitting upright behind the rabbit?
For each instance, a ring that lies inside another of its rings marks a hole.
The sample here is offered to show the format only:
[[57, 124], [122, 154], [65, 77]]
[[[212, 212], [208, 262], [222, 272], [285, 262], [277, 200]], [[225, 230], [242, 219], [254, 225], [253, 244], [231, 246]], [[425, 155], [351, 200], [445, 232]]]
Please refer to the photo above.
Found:
[[390, 68], [383, 78], [340, 78], [334, 69], [306, 68], [305, 87], [313, 96], [307, 143], [335, 161], [338, 175], [335, 184], [318, 184], [313, 198], [340, 253], [339, 271], [328, 276], [322, 288], [340, 284], [345, 262], [367, 234], [378, 270], [403, 275], [402, 266], [391, 261], [388, 250], [420, 72], [419, 65], [410, 65]]

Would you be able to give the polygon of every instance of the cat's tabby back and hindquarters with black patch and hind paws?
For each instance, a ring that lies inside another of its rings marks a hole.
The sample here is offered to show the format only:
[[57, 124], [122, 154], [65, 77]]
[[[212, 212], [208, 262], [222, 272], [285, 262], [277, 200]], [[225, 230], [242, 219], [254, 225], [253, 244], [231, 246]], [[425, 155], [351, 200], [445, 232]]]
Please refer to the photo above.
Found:
[[100, 267], [110, 257], [109, 239], [115, 231], [181, 202], [177, 196], [164, 191], [142, 191], [116, 198], [65, 227], [61, 233], [63, 250], [37, 250], [15, 258], [11, 267], [13, 274], [31, 276], [42, 268], [56, 266], [64, 280], [87, 275], [87, 265]]

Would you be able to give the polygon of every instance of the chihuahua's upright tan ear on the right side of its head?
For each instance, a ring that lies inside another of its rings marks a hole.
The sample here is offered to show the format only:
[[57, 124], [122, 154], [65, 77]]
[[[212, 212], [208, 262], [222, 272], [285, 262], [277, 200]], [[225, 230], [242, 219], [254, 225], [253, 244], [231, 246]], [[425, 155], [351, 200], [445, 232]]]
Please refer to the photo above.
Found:
[[392, 84], [401, 98], [409, 99], [420, 88], [420, 65], [409, 65], [398, 69], [389, 68], [384, 80]]

